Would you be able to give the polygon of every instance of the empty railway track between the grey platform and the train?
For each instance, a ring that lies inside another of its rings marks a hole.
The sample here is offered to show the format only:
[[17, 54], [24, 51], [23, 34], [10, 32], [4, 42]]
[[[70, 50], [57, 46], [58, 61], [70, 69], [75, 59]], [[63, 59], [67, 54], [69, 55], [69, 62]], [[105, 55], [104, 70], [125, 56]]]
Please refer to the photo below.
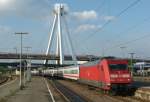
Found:
[[67, 102], [91, 102], [85, 97], [78, 95], [76, 92], [59, 83], [57, 80], [51, 80], [51, 83]]

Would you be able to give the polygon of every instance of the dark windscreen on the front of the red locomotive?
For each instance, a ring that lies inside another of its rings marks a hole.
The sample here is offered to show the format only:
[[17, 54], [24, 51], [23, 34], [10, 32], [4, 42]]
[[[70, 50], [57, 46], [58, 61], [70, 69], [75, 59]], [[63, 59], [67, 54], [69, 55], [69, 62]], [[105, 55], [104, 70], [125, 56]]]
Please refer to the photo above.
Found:
[[126, 64], [110, 64], [109, 68], [111, 70], [127, 70], [128, 69]]

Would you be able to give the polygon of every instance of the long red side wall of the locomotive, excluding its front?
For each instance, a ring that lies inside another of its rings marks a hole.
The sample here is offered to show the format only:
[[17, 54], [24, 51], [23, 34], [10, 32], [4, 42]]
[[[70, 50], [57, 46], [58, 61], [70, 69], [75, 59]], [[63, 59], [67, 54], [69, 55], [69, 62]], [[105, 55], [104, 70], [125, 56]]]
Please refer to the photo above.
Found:
[[95, 87], [109, 90], [110, 78], [106, 61], [101, 61], [93, 66], [80, 67], [80, 82]]

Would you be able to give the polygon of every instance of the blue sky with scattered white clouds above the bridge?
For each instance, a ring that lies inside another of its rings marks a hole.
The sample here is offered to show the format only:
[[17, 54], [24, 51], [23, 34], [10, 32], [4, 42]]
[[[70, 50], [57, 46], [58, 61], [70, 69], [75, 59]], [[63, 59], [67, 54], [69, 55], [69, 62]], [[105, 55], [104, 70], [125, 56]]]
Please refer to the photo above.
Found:
[[150, 0], [0, 0], [0, 52], [14, 53], [15, 47], [19, 52], [15, 32], [28, 32], [23, 46], [32, 47], [31, 53], [45, 53], [54, 5], [59, 3], [66, 8], [75, 54], [129, 57], [134, 52], [137, 58], [150, 57]]

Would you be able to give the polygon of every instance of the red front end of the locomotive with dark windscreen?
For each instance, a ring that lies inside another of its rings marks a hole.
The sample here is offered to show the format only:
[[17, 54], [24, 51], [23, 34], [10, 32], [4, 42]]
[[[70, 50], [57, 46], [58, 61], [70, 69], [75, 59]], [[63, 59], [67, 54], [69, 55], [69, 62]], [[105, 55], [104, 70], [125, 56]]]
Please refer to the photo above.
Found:
[[108, 60], [110, 87], [112, 90], [124, 91], [131, 84], [131, 74], [126, 60]]

